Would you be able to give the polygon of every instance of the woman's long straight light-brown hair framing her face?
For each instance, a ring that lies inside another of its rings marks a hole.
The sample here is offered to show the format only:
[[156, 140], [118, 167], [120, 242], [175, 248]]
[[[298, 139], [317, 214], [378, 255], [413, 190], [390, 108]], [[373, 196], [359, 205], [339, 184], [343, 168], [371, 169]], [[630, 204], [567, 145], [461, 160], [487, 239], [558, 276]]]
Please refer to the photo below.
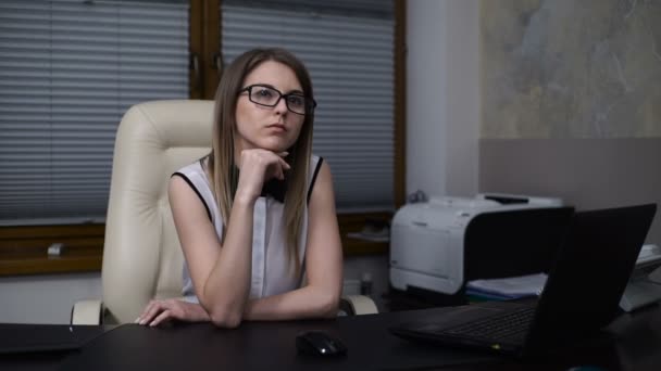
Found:
[[[215, 112], [213, 123], [213, 144], [209, 154], [207, 171], [213, 182], [212, 189], [223, 217], [224, 230], [227, 228], [229, 213], [236, 192], [238, 176], [234, 158], [234, 136], [236, 130], [236, 104], [239, 90], [248, 74], [266, 61], [282, 63], [294, 71], [303, 94], [314, 97], [312, 80], [305, 66], [290, 52], [279, 49], [253, 49], [239, 55], [225, 69], [215, 95]], [[301, 131], [285, 158], [291, 166], [287, 180], [285, 195], [285, 242], [290, 268], [295, 277], [301, 272], [299, 257], [299, 234], [302, 229], [303, 213], [307, 203], [308, 172], [312, 155], [312, 125], [314, 111], [308, 110]], [[224, 233], [223, 233], [224, 234]], [[224, 240], [224, 235], [221, 236]]]

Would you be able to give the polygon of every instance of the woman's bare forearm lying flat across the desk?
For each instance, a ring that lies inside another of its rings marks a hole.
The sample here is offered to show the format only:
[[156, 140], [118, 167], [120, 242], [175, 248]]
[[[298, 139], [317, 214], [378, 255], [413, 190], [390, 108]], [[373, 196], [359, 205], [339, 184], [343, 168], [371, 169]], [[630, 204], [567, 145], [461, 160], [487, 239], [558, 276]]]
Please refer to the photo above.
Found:
[[308, 285], [284, 294], [248, 300], [244, 318], [255, 321], [332, 318], [337, 316], [339, 298], [339, 290]]

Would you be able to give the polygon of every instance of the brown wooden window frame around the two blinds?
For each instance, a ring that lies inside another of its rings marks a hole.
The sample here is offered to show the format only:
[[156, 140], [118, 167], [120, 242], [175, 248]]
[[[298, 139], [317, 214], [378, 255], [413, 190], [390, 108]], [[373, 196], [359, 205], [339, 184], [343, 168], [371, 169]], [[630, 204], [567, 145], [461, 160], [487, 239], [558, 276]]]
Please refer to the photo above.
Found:
[[[220, 0], [190, 1], [190, 99], [215, 95], [222, 65], [219, 65]], [[395, 206], [404, 203], [406, 186], [406, 2], [395, 0]], [[387, 242], [350, 239], [372, 221], [389, 222], [392, 213], [338, 214], [345, 256], [386, 254]], [[100, 271], [105, 226], [0, 227], [0, 277], [20, 274]], [[59, 256], [49, 256], [52, 243], [64, 244]]]

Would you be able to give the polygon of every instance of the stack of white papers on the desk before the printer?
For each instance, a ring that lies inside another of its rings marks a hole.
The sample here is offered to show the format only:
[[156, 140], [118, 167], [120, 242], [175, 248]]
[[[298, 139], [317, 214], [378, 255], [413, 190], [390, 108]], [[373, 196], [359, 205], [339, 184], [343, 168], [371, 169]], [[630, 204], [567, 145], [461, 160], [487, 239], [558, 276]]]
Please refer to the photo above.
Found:
[[502, 279], [474, 280], [466, 284], [466, 292], [503, 298], [538, 296], [544, 289], [546, 279], [546, 273], [537, 273]]

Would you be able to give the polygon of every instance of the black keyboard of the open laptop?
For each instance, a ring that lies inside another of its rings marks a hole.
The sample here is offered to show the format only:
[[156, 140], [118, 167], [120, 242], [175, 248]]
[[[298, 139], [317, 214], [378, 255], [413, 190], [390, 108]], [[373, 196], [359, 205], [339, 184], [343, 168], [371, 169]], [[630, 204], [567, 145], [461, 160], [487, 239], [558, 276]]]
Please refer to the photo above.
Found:
[[490, 342], [522, 344], [535, 314], [535, 307], [487, 317], [475, 322], [445, 329], [445, 334], [483, 338]]

